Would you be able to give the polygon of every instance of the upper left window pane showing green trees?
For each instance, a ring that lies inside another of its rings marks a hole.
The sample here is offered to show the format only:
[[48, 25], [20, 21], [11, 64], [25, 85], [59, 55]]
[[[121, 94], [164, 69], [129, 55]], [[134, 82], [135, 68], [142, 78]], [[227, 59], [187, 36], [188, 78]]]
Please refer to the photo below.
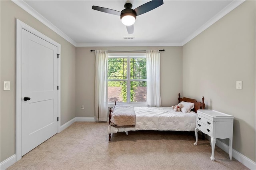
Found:
[[108, 79], [127, 79], [127, 59], [109, 58], [108, 59]]

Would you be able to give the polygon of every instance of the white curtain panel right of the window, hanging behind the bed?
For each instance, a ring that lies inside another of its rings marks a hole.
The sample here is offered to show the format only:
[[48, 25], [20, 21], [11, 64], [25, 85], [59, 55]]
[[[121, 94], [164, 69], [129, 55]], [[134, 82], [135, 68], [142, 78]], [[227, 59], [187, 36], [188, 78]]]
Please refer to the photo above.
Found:
[[152, 107], [161, 107], [160, 95], [160, 52], [148, 50], [146, 52], [147, 67], [147, 104]]

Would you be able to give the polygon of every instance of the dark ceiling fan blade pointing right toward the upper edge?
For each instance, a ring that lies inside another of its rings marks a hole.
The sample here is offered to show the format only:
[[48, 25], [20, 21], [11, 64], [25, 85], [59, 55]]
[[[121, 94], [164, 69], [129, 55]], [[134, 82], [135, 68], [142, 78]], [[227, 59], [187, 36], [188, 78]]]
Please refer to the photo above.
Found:
[[154, 10], [158, 6], [161, 6], [164, 4], [164, 1], [162, 0], [152, 0], [150, 2], [147, 2], [146, 4], [143, 4], [139, 6], [138, 8], [135, 8], [134, 11], [136, 12], [137, 16], [144, 14], [148, 11]]

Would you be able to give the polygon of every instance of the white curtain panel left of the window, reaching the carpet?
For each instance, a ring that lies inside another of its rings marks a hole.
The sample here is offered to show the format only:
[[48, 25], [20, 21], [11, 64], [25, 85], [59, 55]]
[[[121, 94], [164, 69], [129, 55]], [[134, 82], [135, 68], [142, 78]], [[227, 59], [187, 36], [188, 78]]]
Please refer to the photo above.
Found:
[[95, 121], [108, 119], [108, 51], [95, 50]]

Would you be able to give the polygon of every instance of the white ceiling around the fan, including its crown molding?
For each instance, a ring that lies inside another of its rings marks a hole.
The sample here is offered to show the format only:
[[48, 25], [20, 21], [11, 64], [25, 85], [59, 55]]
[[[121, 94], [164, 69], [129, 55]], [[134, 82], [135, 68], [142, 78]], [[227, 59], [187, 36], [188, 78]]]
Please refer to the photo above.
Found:
[[[244, 0], [164, 0], [162, 6], [137, 17], [130, 35], [119, 16], [92, 10], [95, 5], [121, 11], [126, 0], [13, 2], [75, 46], [173, 46], [184, 45]], [[134, 9], [149, 0], [128, 2]]]

